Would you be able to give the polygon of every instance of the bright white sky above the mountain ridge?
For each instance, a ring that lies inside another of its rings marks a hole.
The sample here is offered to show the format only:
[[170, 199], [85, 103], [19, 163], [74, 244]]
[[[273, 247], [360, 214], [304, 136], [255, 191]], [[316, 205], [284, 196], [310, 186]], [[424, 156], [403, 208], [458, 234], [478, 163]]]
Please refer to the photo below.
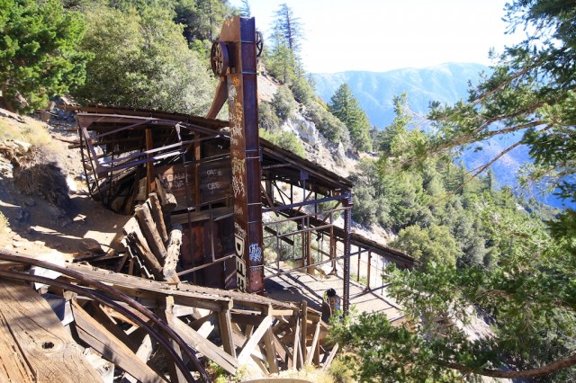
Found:
[[505, 35], [506, 0], [248, 0], [265, 39], [283, 3], [301, 19], [302, 58], [314, 73], [489, 65], [489, 49], [498, 52], [522, 38]]

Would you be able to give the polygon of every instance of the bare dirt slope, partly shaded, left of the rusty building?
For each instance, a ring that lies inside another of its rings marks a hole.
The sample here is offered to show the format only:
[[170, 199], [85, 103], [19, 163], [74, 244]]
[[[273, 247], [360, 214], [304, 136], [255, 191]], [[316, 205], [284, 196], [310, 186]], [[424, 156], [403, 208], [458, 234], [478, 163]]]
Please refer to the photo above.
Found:
[[[0, 117], [0, 128], [26, 131], [42, 124], [29, 117], [23, 120]], [[58, 251], [65, 257], [77, 257], [94, 251], [98, 244], [107, 252], [128, 220], [129, 217], [104, 209], [87, 196], [80, 151], [68, 148], [69, 141], [77, 139], [74, 126], [70, 120], [55, 118], [40, 125], [51, 137], [41, 148], [40, 161], [56, 163], [69, 189], [69, 200], [61, 206], [46, 200], [41, 193], [42, 189], [57, 185], [41, 185], [40, 191], [25, 194], [14, 179], [17, 166], [14, 161], [11, 164], [5, 151], [0, 151], [0, 212], [8, 221], [7, 227], [0, 222], [0, 248], [29, 254]], [[14, 141], [5, 136], [0, 138], [0, 147], [14, 147]]]

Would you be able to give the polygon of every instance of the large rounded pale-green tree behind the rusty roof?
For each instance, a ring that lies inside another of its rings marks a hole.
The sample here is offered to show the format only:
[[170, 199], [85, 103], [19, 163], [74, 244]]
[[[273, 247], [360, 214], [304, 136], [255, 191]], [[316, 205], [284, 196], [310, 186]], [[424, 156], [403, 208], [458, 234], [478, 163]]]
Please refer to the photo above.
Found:
[[74, 95], [109, 106], [202, 114], [214, 84], [171, 13], [158, 7], [125, 11], [94, 5], [82, 47], [94, 54], [85, 85]]

